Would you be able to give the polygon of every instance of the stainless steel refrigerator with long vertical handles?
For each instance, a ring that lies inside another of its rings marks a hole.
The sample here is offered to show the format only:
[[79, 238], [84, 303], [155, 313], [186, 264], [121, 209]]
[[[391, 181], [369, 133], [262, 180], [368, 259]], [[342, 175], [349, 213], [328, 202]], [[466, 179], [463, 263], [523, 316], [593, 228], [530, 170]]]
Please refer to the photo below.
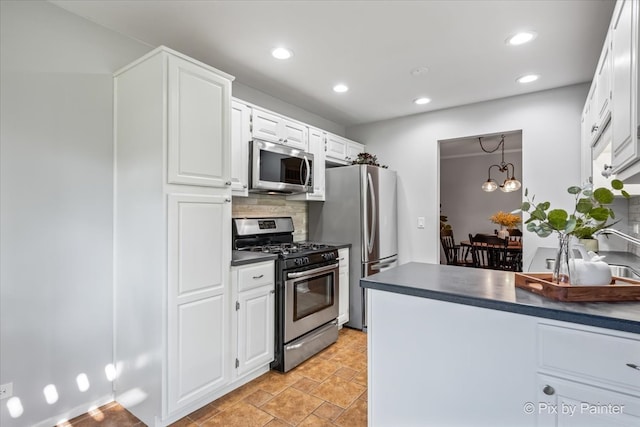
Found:
[[311, 240], [351, 243], [346, 326], [367, 329], [367, 294], [360, 278], [397, 264], [396, 205], [396, 172], [369, 165], [327, 169], [325, 202], [309, 204]]

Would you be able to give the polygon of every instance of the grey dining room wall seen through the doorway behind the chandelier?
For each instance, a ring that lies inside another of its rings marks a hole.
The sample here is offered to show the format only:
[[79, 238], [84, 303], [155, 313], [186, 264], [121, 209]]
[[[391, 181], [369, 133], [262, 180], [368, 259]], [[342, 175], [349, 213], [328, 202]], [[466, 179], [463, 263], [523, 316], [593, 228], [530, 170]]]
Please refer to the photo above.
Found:
[[[506, 141], [508, 149], [509, 140]], [[441, 144], [446, 143], [446, 141], [441, 142]], [[516, 178], [520, 179], [522, 153], [505, 152], [504, 160], [507, 163], [513, 163]], [[482, 183], [487, 180], [489, 166], [499, 164], [500, 161], [500, 151], [493, 154], [440, 159], [442, 214], [448, 217], [448, 224], [453, 229], [456, 242], [468, 240], [469, 233], [491, 234], [493, 230], [499, 230], [500, 226], [492, 223], [489, 217], [497, 211], [511, 212], [520, 209], [522, 189], [512, 193], [500, 190], [487, 193], [481, 188]], [[491, 177], [500, 183], [506, 178], [506, 173], [500, 173], [493, 168]], [[518, 228], [523, 229], [522, 226]]]

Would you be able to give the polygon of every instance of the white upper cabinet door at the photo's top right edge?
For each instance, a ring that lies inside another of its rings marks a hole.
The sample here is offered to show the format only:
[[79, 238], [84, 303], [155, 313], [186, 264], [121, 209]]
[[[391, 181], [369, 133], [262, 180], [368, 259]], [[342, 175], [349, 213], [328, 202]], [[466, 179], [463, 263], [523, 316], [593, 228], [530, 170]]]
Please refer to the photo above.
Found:
[[[622, 0], [616, 4], [612, 21], [611, 58], [612, 71], [612, 116], [611, 136], [613, 161], [617, 170], [633, 162], [638, 153], [633, 132], [633, 2]], [[637, 37], [637, 35], [636, 35]], [[637, 47], [636, 47], [637, 49]]]

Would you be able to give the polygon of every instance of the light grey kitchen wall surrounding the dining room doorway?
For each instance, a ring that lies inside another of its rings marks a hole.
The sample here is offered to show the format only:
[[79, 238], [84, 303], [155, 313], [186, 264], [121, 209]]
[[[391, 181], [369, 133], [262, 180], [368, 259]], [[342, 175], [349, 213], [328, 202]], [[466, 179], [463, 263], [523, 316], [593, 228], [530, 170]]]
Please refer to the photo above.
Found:
[[[522, 130], [524, 186], [537, 200], [569, 208], [566, 188], [580, 184], [580, 114], [587, 90], [586, 84], [574, 85], [348, 128], [349, 138], [398, 171], [400, 262], [439, 261], [439, 140]], [[423, 230], [416, 227], [420, 216], [426, 218]], [[538, 246], [557, 244], [526, 232], [525, 239], [525, 269]]]

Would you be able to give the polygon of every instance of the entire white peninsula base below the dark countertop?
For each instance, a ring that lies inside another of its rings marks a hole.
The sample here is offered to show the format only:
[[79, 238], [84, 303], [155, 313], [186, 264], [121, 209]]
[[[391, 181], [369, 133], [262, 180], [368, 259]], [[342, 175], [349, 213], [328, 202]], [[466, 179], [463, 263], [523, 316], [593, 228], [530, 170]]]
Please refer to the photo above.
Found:
[[640, 426], [638, 334], [368, 291], [370, 426]]

